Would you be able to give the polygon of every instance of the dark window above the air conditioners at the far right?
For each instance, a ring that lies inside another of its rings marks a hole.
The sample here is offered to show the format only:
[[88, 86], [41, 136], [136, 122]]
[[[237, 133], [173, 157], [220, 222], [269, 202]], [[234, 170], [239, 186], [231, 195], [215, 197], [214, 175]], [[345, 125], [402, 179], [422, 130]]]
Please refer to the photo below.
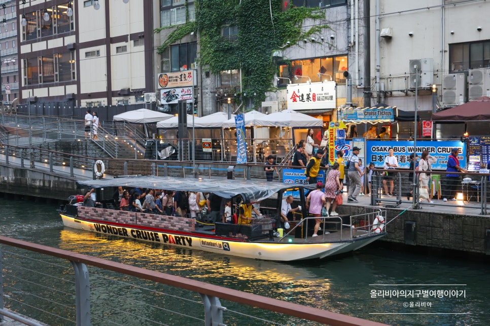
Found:
[[449, 72], [490, 67], [490, 40], [449, 45]]

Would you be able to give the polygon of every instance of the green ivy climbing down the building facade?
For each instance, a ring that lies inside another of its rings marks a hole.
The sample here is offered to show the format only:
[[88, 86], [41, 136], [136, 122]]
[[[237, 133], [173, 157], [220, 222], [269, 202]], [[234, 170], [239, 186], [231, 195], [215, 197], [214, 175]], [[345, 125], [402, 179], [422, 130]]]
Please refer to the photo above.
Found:
[[[243, 93], [253, 97], [257, 107], [257, 103], [265, 100], [265, 93], [273, 90], [271, 81], [277, 73], [277, 64], [272, 53], [280, 50], [286, 42], [290, 42], [288, 47], [301, 45], [304, 38], [329, 28], [320, 8], [299, 7], [283, 12], [282, 4], [281, 0], [197, 0], [196, 21], [176, 27], [158, 48], [158, 53], [190, 32], [197, 31], [200, 37], [199, 63], [216, 74], [241, 67]], [[313, 19], [314, 24], [303, 30], [305, 19]], [[221, 36], [224, 25], [238, 27], [235, 42]], [[253, 96], [254, 93], [257, 96]]]

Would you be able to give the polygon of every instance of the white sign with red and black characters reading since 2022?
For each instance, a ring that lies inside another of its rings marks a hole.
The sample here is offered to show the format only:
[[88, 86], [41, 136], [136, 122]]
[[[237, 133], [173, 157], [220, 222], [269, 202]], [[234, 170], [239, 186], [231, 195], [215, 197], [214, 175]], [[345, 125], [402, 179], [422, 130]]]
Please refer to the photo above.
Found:
[[336, 107], [335, 81], [288, 85], [288, 109], [315, 110]]

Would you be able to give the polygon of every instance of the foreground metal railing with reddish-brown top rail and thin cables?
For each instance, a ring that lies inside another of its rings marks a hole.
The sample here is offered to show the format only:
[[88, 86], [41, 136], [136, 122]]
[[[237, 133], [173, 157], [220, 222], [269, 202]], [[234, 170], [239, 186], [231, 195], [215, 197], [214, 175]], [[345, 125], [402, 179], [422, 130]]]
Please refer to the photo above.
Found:
[[[179, 320], [182, 324], [198, 321], [206, 326], [264, 321], [268, 324], [294, 322], [291, 317], [283, 318], [283, 314], [297, 318], [295, 323], [303, 319], [323, 324], [380, 325], [374, 321], [9, 237], [0, 236], [0, 243], [5, 245], [0, 251], [0, 270], [3, 271], [0, 275], [0, 283], [3, 285], [0, 288], [0, 298], [5, 297], [0, 301], [0, 321], [3, 320], [3, 315], [7, 314], [3, 306], [5, 301], [9, 303], [9, 307], [19, 307], [24, 315], [30, 315], [35, 319], [42, 317], [49, 324], [73, 323], [76, 319], [78, 326], [90, 325], [92, 320], [94, 323], [98, 322], [97, 324], [126, 324], [124, 320], [127, 318], [138, 324], [168, 324], [168, 320]], [[20, 248], [22, 251], [10, 248]], [[49, 262], [30, 258], [34, 253], [48, 257]], [[9, 259], [6, 256], [15, 257]], [[72, 271], [66, 261], [71, 263]], [[13, 269], [18, 272], [12, 273]], [[145, 282], [144, 287], [138, 286], [132, 281], [133, 278], [150, 282]], [[158, 286], [164, 286], [165, 290]], [[115, 291], [111, 291], [112, 288]], [[9, 295], [6, 295], [5, 291]], [[177, 295], [172, 295], [177, 291]], [[192, 293], [198, 293], [201, 301], [197, 301], [197, 296], [193, 296]], [[145, 296], [149, 299], [145, 300]], [[186, 299], [185, 296], [190, 299]], [[165, 300], [165, 297], [168, 297], [168, 300]], [[157, 298], [160, 300], [156, 300]], [[178, 300], [184, 303], [180, 306], [173, 304]], [[226, 300], [228, 307], [222, 306], [221, 300]], [[195, 309], [196, 305], [201, 308]], [[148, 309], [151, 309], [152, 313], [147, 313]], [[36, 311], [41, 313], [36, 314]], [[261, 317], [257, 317], [258, 313]], [[157, 320], [158, 316], [163, 320]], [[167, 320], [166, 317], [172, 319]], [[272, 318], [276, 320], [268, 320]]]

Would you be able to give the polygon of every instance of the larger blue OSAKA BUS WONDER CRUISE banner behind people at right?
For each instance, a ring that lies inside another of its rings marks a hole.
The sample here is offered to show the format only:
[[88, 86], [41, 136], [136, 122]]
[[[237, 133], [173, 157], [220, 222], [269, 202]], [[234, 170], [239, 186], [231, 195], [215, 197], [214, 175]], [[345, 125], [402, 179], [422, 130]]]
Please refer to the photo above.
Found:
[[[416, 153], [418, 157], [422, 155], [422, 151], [427, 150], [429, 154], [437, 161], [431, 165], [432, 170], [446, 170], [447, 157], [451, 154], [451, 149], [457, 147], [459, 149], [458, 159], [460, 160], [460, 166], [466, 167], [466, 144], [459, 140], [453, 141], [417, 141]], [[388, 149], [393, 148], [394, 155], [398, 158], [398, 166], [400, 168], [408, 169], [410, 162], [408, 156], [413, 153], [413, 141], [366, 141], [366, 157], [365, 165], [368, 166], [370, 162], [374, 163], [376, 168], [382, 168], [384, 158], [388, 156]]]

